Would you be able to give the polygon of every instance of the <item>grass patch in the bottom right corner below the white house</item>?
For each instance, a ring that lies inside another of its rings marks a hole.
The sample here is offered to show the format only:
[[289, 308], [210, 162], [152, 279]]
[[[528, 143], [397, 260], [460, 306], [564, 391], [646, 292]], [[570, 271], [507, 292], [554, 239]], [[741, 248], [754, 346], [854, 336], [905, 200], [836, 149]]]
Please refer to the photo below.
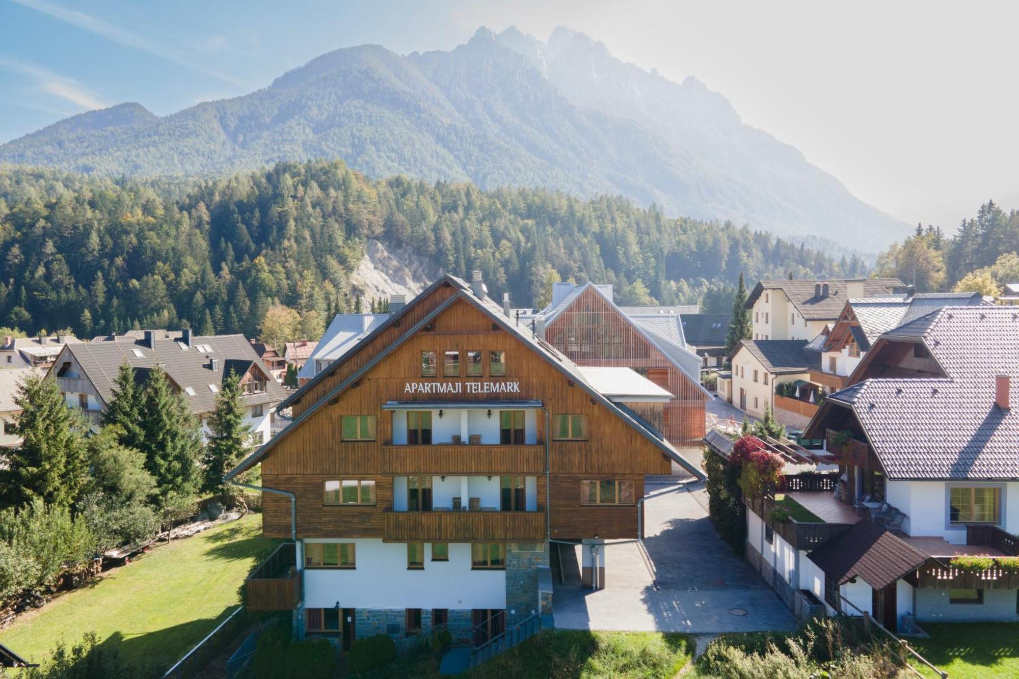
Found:
[[952, 679], [1019, 677], [1019, 623], [924, 622], [920, 627], [930, 638], [911, 638], [910, 645]]

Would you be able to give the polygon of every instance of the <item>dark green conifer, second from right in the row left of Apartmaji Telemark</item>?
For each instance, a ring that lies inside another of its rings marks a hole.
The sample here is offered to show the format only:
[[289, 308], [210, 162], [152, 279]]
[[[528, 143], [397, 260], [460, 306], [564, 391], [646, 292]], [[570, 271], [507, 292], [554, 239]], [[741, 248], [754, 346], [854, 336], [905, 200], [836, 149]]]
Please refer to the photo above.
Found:
[[141, 451], [159, 491], [193, 491], [202, 434], [183, 397], [170, 389], [166, 373], [158, 366], [149, 374], [141, 419], [145, 436]]

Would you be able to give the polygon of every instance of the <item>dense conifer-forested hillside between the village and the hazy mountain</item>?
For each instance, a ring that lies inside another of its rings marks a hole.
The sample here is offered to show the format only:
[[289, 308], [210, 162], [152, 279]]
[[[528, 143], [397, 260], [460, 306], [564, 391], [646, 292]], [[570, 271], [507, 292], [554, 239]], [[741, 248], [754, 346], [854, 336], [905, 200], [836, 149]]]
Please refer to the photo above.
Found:
[[369, 180], [338, 161], [192, 187], [14, 168], [0, 171], [0, 325], [255, 336], [274, 301], [321, 318], [353, 309], [370, 238], [458, 275], [481, 269], [516, 306], [561, 278], [613, 283], [627, 303], [725, 311], [740, 271], [866, 273], [858, 258], [622, 198]]

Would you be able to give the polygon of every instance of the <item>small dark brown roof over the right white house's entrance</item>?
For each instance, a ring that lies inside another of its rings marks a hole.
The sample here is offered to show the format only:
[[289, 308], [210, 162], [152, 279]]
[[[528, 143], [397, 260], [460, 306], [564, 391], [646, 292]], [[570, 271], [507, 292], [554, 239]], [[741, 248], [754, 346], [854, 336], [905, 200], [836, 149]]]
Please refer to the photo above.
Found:
[[[817, 547], [807, 558], [839, 584], [858, 577], [872, 588], [881, 589], [919, 568], [927, 555], [864, 520]], [[853, 604], [864, 608], [870, 602]]]

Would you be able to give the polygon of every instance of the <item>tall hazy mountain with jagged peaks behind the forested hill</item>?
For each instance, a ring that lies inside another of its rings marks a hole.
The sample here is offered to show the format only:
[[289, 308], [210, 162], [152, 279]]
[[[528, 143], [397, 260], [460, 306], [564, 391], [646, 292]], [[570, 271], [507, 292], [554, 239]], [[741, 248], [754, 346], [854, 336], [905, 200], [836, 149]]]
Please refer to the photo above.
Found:
[[369, 176], [623, 195], [671, 214], [879, 247], [908, 233], [694, 79], [672, 83], [557, 29], [455, 49], [340, 49], [266, 89], [164, 117], [137, 104], [0, 146], [0, 161], [99, 174], [216, 175], [342, 158]]

